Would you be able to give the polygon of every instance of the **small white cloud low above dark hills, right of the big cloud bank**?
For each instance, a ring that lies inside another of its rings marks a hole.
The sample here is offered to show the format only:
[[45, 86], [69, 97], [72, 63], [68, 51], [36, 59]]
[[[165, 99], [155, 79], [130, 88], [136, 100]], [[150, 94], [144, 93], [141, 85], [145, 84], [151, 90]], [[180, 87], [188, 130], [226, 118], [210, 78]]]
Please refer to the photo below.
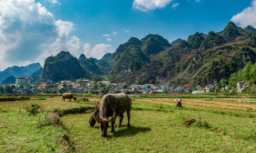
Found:
[[84, 44], [84, 55], [88, 57], [95, 57], [96, 59], [101, 59], [103, 55], [107, 53], [113, 53], [111, 45], [108, 44], [97, 44], [93, 48], [90, 47], [89, 43]]

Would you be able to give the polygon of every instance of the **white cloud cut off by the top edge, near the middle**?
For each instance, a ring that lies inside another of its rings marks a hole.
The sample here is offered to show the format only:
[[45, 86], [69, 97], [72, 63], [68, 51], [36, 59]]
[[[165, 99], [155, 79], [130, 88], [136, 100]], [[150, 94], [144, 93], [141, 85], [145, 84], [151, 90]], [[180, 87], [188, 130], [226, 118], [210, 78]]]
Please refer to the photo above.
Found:
[[133, 8], [140, 11], [148, 11], [156, 8], [164, 8], [171, 2], [172, 0], [134, 0]]

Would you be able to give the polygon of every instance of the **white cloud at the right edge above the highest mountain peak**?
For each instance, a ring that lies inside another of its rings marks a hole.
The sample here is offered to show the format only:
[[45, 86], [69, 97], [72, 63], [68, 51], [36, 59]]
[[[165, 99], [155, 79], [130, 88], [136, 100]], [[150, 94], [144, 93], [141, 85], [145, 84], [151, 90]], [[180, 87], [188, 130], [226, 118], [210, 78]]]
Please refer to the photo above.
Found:
[[241, 27], [248, 25], [256, 27], [256, 0], [253, 0], [250, 7], [234, 15], [231, 19], [234, 23], [239, 23]]

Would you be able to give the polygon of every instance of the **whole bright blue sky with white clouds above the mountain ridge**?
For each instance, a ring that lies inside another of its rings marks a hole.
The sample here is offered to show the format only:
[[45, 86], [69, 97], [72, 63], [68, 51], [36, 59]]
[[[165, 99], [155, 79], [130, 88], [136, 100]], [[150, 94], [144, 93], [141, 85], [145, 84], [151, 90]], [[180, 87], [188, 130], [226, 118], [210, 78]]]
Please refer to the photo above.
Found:
[[0, 0], [0, 70], [70, 51], [100, 59], [130, 37], [169, 42], [256, 26], [256, 0]]

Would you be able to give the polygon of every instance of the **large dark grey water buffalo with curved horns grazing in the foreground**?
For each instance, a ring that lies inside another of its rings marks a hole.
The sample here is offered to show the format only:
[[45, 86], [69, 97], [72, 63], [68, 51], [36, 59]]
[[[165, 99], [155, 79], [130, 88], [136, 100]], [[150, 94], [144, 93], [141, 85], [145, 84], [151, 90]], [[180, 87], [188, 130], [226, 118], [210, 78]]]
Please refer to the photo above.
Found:
[[[93, 118], [99, 123], [102, 136], [107, 137], [108, 123], [111, 122], [112, 128], [111, 133], [115, 132], [114, 124], [116, 122], [116, 116], [119, 116], [119, 125], [121, 127], [122, 119], [124, 118], [123, 113], [127, 113], [128, 124], [130, 126], [131, 116], [131, 98], [126, 94], [106, 94], [103, 96], [99, 103], [99, 108], [93, 112]], [[112, 117], [111, 117], [112, 116]], [[111, 117], [111, 119], [108, 119]]]

